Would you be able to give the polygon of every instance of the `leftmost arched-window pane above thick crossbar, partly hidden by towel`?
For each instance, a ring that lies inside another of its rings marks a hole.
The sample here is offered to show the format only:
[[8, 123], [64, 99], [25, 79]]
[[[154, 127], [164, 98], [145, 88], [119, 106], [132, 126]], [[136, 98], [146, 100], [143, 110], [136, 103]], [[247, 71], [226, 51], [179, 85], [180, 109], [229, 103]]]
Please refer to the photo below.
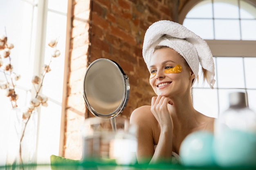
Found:
[[183, 24], [203, 39], [212, 40], [214, 38], [213, 20], [211, 19], [185, 19]]

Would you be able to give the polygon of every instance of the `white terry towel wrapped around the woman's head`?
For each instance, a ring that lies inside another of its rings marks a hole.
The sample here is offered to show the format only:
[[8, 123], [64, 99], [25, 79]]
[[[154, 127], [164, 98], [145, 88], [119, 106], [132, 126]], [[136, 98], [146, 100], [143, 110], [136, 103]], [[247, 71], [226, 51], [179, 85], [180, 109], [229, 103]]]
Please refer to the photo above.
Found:
[[[198, 76], [199, 64], [207, 70], [206, 79], [211, 88], [215, 83], [214, 62], [207, 43], [185, 26], [176, 22], [161, 20], [153, 23], [146, 31], [142, 55], [149, 69], [155, 46], [168, 46], [182, 55]], [[195, 82], [195, 81], [194, 81]]]

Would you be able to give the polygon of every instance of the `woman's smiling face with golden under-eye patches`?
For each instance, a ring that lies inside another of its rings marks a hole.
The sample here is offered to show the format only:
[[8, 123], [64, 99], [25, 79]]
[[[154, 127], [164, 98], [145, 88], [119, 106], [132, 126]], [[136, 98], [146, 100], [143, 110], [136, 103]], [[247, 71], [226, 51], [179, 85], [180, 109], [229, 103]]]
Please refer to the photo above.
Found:
[[[166, 70], [180, 65], [182, 71], [170, 73]], [[149, 82], [157, 95], [172, 97], [189, 93], [192, 80], [195, 78], [186, 60], [171, 48], [155, 50], [150, 61], [150, 74], [155, 76]]]

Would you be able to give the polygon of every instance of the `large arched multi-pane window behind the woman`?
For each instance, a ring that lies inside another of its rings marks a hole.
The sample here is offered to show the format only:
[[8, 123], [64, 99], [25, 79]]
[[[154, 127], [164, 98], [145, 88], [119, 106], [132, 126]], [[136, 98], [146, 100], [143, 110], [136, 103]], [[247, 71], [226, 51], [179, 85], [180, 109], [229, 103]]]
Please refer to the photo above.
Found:
[[214, 90], [202, 81], [193, 86], [195, 108], [218, 117], [229, 106], [228, 94], [243, 91], [256, 110], [256, 2], [191, 0], [179, 22], [207, 41], [215, 61]]

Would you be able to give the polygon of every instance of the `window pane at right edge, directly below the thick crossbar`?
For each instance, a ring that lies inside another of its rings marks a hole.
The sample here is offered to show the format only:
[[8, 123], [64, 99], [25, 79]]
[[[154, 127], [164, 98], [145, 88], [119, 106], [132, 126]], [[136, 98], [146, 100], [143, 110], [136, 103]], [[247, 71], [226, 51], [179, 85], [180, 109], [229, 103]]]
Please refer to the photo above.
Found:
[[[256, 54], [255, 54], [256, 55]], [[256, 58], [246, 57], [245, 62], [245, 83], [247, 88], [256, 89]]]

